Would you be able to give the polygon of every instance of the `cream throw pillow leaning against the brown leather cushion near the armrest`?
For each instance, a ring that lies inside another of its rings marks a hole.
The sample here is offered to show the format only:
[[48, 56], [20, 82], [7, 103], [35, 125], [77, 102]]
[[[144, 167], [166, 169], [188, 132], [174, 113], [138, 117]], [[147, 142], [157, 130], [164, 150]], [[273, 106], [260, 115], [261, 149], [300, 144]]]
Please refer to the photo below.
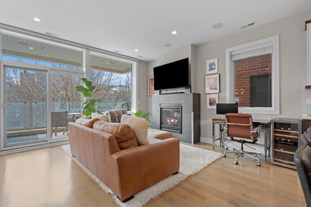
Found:
[[147, 120], [124, 114], [121, 116], [121, 124], [127, 124], [131, 126], [136, 135], [138, 146], [149, 144], [149, 141], [147, 139], [147, 131], [148, 131]]

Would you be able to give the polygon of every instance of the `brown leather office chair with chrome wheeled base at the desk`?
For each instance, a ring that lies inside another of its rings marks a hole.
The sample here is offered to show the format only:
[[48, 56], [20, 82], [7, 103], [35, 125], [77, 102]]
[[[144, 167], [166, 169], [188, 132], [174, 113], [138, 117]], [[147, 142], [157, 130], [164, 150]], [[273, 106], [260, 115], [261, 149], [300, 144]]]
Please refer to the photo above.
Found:
[[[234, 160], [234, 164], [238, 164], [239, 163], [238, 159], [246, 155], [247, 157], [256, 159], [257, 166], [260, 166], [260, 161], [259, 161], [259, 158], [257, 157], [257, 153], [254, 153], [255, 154], [255, 157], [254, 157], [250, 155], [251, 152], [246, 153], [243, 149], [243, 144], [245, 145], [246, 143], [256, 144], [256, 142], [258, 141], [257, 138], [260, 137], [259, 136], [260, 128], [253, 127], [252, 115], [247, 114], [247, 113], [226, 113], [225, 118], [226, 118], [226, 121], [225, 121], [226, 136], [225, 137], [230, 137], [231, 139], [230, 141], [241, 143], [241, 149], [235, 149], [236, 151], [225, 151], [223, 154], [223, 157], [226, 157], [226, 153], [235, 153], [237, 157]], [[241, 138], [241, 139], [237, 139], [237, 138]]]

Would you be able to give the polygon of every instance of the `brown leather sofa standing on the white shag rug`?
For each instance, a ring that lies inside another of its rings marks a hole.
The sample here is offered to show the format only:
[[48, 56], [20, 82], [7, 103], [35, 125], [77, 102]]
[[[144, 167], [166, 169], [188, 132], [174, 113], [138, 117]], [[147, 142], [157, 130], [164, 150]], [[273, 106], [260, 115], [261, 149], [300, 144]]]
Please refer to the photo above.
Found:
[[[149, 143], [138, 146], [128, 125], [98, 119], [92, 122], [87, 124], [88, 127], [69, 123], [71, 153], [114, 191], [122, 202], [132, 199], [134, 194], [165, 177], [178, 173], [179, 139], [149, 138]], [[117, 132], [113, 135], [105, 131]], [[124, 140], [127, 136], [131, 138]]]

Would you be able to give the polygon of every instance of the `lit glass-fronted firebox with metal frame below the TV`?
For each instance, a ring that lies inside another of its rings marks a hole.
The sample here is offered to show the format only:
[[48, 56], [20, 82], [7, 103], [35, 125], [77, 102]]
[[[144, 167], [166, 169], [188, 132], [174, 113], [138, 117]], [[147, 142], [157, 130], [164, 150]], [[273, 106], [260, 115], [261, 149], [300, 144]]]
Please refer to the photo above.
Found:
[[181, 104], [160, 104], [160, 129], [181, 133]]

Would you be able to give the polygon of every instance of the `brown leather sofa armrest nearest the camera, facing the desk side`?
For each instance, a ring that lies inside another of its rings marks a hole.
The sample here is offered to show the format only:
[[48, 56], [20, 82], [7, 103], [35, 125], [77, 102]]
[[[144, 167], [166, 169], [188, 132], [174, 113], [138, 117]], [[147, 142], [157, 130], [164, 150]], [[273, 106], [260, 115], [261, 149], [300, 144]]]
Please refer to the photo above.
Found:
[[113, 180], [119, 179], [119, 197], [125, 199], [178, 172], [179, 139], [169, 138], [121, 150], [112, 154], [111, 159], [117, 171]]

